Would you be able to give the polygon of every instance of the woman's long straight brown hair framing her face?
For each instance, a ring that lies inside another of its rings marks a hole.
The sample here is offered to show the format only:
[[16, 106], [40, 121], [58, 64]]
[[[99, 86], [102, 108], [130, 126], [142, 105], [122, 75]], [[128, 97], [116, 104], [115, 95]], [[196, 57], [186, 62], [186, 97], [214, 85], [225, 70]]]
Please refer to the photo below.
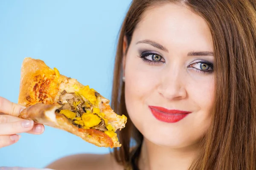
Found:
[[[128, 117], [119, 132], [122, 147], [114, 150], [125, 169], [138, 169], [143, 135], [125, 108], [122, 82], [123, 38], [128, 45], [146, 9], [163, 3], [188, 6], [207, 22], [215, 54], [215, 103], [212, 124], [190, 170], [256, 170], [256, 1], [133, 0], [119, 34], [112, 107]], [[134, 142], [134, 149], [131, 144]]]

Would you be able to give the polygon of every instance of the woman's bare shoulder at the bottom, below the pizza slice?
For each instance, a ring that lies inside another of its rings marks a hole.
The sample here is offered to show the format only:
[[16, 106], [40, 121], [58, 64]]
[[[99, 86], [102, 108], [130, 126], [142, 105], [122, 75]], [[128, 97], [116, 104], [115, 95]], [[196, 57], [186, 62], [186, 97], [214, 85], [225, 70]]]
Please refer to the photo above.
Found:
[[79, 154], [61, 158], [49, 164], [54, 170], [123, 170], [112, 154]]

